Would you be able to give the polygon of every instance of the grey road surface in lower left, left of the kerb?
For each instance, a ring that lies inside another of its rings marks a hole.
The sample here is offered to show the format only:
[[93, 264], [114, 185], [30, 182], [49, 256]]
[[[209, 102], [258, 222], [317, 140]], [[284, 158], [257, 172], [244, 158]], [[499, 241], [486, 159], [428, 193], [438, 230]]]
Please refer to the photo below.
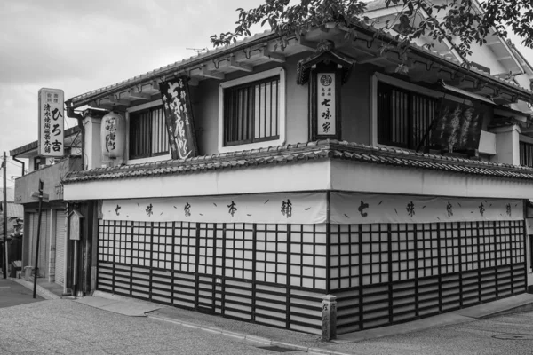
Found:
[[[0, 354], [276, 354], [225, 335], [68, 299], [0, 309]], [[290, 352], [303, 354], [303, 352]]]

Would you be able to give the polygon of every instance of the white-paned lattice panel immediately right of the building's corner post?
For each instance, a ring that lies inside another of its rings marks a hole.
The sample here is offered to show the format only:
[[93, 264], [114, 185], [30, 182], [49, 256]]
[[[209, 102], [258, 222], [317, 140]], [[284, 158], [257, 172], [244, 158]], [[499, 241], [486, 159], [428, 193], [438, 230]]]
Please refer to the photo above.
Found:
[[331, 225], [331, 289], [359, 286], [359, 225]]

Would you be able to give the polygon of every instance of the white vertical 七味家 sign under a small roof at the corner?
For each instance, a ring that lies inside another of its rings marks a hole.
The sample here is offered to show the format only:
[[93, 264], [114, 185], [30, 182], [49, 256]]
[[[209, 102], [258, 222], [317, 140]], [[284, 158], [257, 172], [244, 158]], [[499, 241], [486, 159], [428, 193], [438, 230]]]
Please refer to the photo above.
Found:
[[316, 131], [319, 136], [335, 136], [335, 73], [318, 73], [316, 78]]

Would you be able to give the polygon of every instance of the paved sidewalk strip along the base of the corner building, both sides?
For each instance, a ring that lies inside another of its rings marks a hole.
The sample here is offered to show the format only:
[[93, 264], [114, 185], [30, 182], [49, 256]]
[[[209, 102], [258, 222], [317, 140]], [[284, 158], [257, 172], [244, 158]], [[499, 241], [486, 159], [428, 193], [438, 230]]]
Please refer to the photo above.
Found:
[[[28, 284], [33, 287], [33, 284], [29, 282]], [[43, 289], [45, 290], [45, 288]], [[58, 297], [58, 295], [53, 296]], [[78, 298], [75, 302], [99, 308], [107, 312], [136, 317], [146, 316], [148, 319], [170, 322], [187, 328], [200, 329], [211, 334], [226, 335], [254, 343], [261, 343], [276, 347], [279, 350], [305, 351], [308, 353], [331, 355], [361, 353], [357, 349], [357, 343], [366, 340], [378, 339], [385, 336], [405, 335], [408, 333], [416, 334], [416, 332], [432, 327], [468, 324], [479, 319], [486, 319], [497, 315], [533, 310], [533, 295], [522, 294], [488, 304], [479, 304], [455, 312], [443, 313], [426, 319], [418, 319], [390, 327], [379, 327], [339, 335], [338, 339], [332, 342], [323, 342], [319, 335], [309, 335], [288, 329], [261, 326], [240, 320], [227, 319], [217, 315], [188, 311], [129, 297], [111, 295], [100, 291], [96, 291], [94, 296]]]

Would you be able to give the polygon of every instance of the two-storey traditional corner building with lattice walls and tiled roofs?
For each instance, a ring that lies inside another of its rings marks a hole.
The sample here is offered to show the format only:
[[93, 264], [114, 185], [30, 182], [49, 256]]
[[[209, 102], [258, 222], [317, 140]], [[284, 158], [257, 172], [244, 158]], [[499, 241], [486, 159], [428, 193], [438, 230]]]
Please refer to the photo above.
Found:
[[81, 117], [87, 169], [62, 179], [78, 291], [314, 334], [328, 294], [342, 334], [526, 292], [531, 113], [511, 106], [532, 92], [491, 75], [508, 67], [487, 47], [471, 68], [417, 44], [402, 61], [392, 36], [346, 30], [283, 51], [264, 33], [68, 99], [113, 111]]

